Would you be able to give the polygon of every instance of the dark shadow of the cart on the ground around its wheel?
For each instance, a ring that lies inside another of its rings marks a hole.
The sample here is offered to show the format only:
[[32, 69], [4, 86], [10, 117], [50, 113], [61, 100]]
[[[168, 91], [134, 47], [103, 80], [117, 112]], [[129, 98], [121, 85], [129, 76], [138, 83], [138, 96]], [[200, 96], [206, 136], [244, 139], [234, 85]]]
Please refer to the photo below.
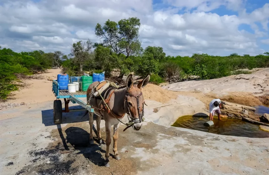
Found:
[[[81, 109], [80, 105], [70, 106], [69, 109]], [[89, 115], [85, 115], [86, 111], [63, 113], [63, 119], [61, 124], [76, 123], [89, 121]], [[56, 125], [53, 122], [53, 109], [42, 110], [42, 123], [45, 126]]]

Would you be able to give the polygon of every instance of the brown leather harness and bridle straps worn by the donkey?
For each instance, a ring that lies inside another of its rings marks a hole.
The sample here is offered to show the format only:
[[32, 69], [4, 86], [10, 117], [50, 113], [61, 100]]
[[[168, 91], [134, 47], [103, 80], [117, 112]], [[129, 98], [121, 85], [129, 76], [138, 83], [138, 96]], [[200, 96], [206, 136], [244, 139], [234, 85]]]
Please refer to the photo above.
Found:
[[[94, 97], [95, 102], [96, 102], [96, 105], [98, 106], [98, 104], [97, 104], [97, 99], [98, 99], [98, 98], [96, 98], [96, 97], [93, 95], [94, 89], [99, 93], [99, 91], [98, 91], [97, 88], [93, 88], [93, 89], [92, 89], [91, 96]], [[104, 105], [101, 104], [101, 108], [95, 108], [95, 107], [93, 107], [93, 106], [92, 106], [92, 108], [94, 108], [94, 109], [98, 109], [99, 112], [100, 112], [101, 117], [103, 117], [101, 110], [104, 110], [104, 111], [106, 111], [111, 117], [114, 117], [115, 119], [119, 120], [120, 118], [123, 118], [125, 114], [123, 114], [123, 115], [117, 115], [117, 114], [115, 114], [115, 113], [109, 108], [110, 98], [111, 98], [111, 96], [114, 94], [114, 91], [115, 91], [115, 90], [112, 90], [112, 91], [111, 91], [111, 93], [109, 94], [109, 97], [108, 97], [107, 99], [104, 99], [103, 96], [99, 93], [99, 94], [100, 94], [99, 97], [101, 97], [101, 99], [103, 100]], [[107, 90], [105, 90], [104, 92], [107, 92]], [[142, 105], [142, 111], [141, 111], [141, 113], [140, 113], [140, 109], [141, 109], [141, 107], [140, 107], [140, 105], [139, 105], [139, 97], [140, 97], [141, 95], [142, 95], [142, 92], [141, 92], [140, 95], [138, 95], [138, 96], [134, 96], [134, 95], [129, 94], [129, 93], [126, 93], [126, 94], [125, 94], [125, 99], [124, 99], [124, 101], [125, 101], [124, 110], [125, 110], [125, 106], [126, 106], [126, 108], [127, 108], [127, 116], [128, 116], [129, 122], [128, 122], [128, 123], [123, 123], [122, 121], [119, 120], [119, 122], [121, 122], [122, 124], [124, 124], [124, 125], [127, 126], [123, 131], [125, 131], [126, 129], [128, 129], [129, 127], [131, 127], [132, 124], [140, 123], [140, 122], [144, 121], [143, 116], [144, 116], [144, 104], [145, 104], [145, 102], [143, 102], [143, 105]], [[91, 96], [90, 96], [90, 97], [91, 97]], [[134, 118], [134, 116], [132, 116], [132, 114], [131, 114], [131, 112], [130, 112], [130, 109], [129, 109], [129, 105], [128, 105], [128, 103], [127, 103], [127, 98], [126, 98], [127, 96], [131, 96], [131, 97], [135, 97], [135, 98], [136, 98], [136, 101], [137, 101], [137, 110], [138, 110], [138, 115], [139, 115], [139, 120], [138, 120], [137, 118]], [[89, 99], [89, 100], [90, 100], [90, 99]], [[146, 105], [146, 104], [145, 104], [145, 105]]]

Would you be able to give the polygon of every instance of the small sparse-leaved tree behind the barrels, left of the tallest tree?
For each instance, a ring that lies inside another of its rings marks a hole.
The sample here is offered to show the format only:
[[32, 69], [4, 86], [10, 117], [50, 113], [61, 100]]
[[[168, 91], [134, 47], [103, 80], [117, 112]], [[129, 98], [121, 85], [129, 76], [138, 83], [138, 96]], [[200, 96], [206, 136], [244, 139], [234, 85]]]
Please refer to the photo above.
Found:
[[79, 66], [80, 71], [83, 71], [83, 66], [93, 59], [92, 48], [93, 43], [90, 40], [73, 44], [70, 55], [74, 56], [74, 61]]

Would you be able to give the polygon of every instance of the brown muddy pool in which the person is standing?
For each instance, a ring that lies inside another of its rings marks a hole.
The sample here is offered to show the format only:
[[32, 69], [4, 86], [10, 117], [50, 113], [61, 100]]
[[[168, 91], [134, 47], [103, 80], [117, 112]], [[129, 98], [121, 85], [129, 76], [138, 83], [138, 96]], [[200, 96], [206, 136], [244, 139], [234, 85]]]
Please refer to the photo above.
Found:
[[238, 119], [228, 119], [214, 117], [214, 126], [204, 126], [209, 118], [197, 117], [197, 116], [183, 116], [176, 120], [172, 125], [175, 127], [194, 129], [204, 131], [208, 133], [221, 134], [221, 135], [233, 135], [240, 137], [251, 138], [266, 138], [269, 137], [269, 132], [259, 129], [259, 125], [250, 124]]

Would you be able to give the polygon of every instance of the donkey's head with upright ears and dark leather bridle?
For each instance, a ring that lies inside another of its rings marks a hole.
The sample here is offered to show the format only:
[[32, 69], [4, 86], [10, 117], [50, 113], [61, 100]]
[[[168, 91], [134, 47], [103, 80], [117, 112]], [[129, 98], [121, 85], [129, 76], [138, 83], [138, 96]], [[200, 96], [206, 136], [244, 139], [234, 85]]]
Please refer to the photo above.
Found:
[[132, 75], [129, 75], [126, 80], [127, 93], [125, 95], [125, 107], [127, 114], [130, 115], [131, 120], [134, 122], [132, 125], [134, 130], [139, 130], [142, 126], [142, 117], [144, 115], [144, 97], [142, 88], [144, 88], [150, 80], [150, 75], [145, 79], [134, 84]]

